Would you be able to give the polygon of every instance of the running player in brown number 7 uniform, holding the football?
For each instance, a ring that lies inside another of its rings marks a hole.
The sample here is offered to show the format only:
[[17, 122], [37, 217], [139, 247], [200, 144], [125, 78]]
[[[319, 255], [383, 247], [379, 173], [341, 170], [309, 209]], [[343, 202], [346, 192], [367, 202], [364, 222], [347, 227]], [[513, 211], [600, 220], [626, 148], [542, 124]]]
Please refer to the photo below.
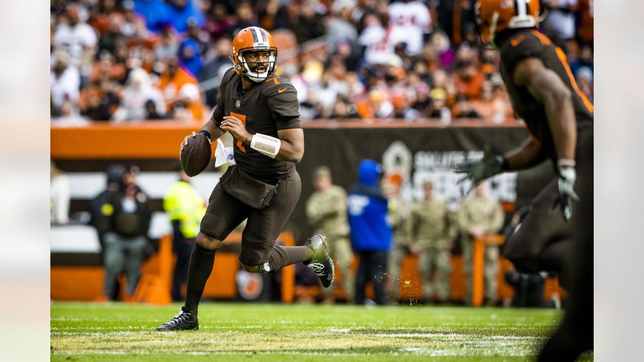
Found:
[[[214, 254], [245, 219], [239, 257], [245, 271], [276, 272], [303, 262], [324, 287], [333, 281], [324, 236], [316, 234], [303, 246], [275, 245], [299, 199], [295, 164], [304, 153], [297, 92], [275, 75], [277, 52], [270, 33], [256, 26], [240, 30], [232, 41], [234, 66], [223, 76], [213, 116], [199, 133], [217, 140], [230, 132], [236, 165], [227, 169], [210, 196], [188, 267], [185, 305], [156, 330], [199, 328], [197, 309]], [[195, 135], [184, 138], [180, 151]]]

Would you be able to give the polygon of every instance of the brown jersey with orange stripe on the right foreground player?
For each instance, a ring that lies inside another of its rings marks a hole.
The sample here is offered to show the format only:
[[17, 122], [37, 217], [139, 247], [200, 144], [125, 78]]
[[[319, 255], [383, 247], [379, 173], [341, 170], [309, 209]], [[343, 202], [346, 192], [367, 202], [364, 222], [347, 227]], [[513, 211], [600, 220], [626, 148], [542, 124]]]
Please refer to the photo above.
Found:
[[537, 102], [526, 87], [517, 86], [513, 81], [516, 65], [530, 57], [541, 59], [545, 67], [557, 73], [571, 91], [577, 120], [577, 133], [592, 129], [593, 106], [577, 87], [564, 51], [555, 46], [542, 33], [536, 30], [518, 32], [511, 37], [505, 48], [501, 50], [501, 75], [506, 83], [512, 106], [519, 117], [526, 121], [527, 128], [536, 138], [536, 141], [541, 144], [545, 155], [556, 160], [553, 135], [548, 125], [544, 105]]

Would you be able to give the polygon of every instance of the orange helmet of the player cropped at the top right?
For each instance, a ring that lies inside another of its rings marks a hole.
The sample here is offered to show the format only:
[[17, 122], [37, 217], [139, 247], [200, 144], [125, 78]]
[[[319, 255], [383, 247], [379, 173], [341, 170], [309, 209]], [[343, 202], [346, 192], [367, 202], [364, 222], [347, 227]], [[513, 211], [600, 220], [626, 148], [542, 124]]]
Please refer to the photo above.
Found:
[[478, 0], [474, 8], [483, 43], [494, 44], [506, 29], [534, 28], [539, 19], [539, 0]]

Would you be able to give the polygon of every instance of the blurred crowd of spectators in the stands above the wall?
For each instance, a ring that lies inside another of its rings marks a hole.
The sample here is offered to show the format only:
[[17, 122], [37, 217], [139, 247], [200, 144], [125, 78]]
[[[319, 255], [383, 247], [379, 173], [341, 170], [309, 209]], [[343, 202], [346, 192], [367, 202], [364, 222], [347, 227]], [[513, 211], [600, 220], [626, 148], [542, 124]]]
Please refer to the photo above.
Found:
[[[278, 74], [310, 119], [513, 117], [473, 0], [52, 0], [54, 120], [201, 122], [247, 26], [278, 45]], [[592, 0], [543, 0], [542, 31], [593, 93]]]

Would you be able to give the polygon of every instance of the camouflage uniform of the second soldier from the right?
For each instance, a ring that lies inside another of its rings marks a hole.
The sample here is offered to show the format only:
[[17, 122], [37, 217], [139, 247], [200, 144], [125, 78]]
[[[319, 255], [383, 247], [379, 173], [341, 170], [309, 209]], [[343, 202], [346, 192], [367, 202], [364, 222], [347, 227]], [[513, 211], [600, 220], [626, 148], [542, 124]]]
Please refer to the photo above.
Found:
[[[452, 217], [447, 203], [442, 200], [422, 200], [415, 203], [409, 218], [409, 233], [421, 248], [423, 296], [431, 301], [435, 293], [438, 300], [450, 298], [451, 244], [455, 237]], [[431, 280], [431, 270], [436, 270], [436, 280]]]

